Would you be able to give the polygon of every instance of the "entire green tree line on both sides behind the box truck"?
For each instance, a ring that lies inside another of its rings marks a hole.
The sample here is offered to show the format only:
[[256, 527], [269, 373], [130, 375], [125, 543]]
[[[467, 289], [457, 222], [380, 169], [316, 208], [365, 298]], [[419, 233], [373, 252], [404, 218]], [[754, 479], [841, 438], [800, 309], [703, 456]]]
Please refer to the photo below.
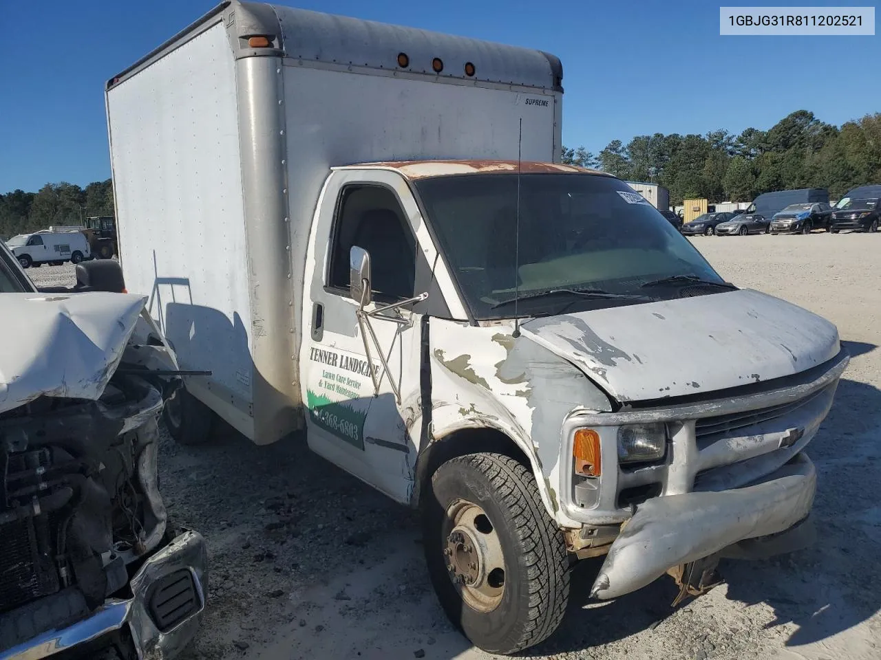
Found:
[[[827, 188], [835, 198], [864, 183], [881, 183], [881, 113], [839, 128], [797, 110], [768, 130], [746, 128], [737, 136], [723, 128], [705, 136], [655, 133], [627, 144], [612, 140], [596, 156], [564, 147], [563, 162], [659, 183], [670, 190], [672, 204], [694, 197], [751, 202], [761, 193], [805, 187]], [[36, 193], [13, 190], [0, 194], [0, 238], [113, 214], [109, 179], [85, 188], [62, 182]]]

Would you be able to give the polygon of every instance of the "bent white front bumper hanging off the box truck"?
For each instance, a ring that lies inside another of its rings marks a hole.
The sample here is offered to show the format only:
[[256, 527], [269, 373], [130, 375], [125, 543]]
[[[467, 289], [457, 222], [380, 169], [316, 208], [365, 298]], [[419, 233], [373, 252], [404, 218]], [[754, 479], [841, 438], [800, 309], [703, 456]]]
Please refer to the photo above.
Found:
[[808, 517], [816, 486], [811, 459], [799, 453], [752, 486], [650, 499], [623, 525], [590, 595], [618, 598], [671, 567], [728, 548], [732, 556], [749, 556], [744, 541], [786, 532]]

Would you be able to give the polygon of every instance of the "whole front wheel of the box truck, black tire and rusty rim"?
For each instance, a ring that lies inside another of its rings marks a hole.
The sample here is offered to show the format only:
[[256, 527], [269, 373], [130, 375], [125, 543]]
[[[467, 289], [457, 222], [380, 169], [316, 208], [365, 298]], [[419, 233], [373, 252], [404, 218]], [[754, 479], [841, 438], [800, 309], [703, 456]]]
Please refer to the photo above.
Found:
[[[441, 465], [426, 491], [426, 564], [449, 620], [490, 653], [515, 653], [553, 634], [566, 612], [569, 562], [533, 474], [514, 458], [469, 454]], [[480, 586], [454, 576], [477, 576]]]

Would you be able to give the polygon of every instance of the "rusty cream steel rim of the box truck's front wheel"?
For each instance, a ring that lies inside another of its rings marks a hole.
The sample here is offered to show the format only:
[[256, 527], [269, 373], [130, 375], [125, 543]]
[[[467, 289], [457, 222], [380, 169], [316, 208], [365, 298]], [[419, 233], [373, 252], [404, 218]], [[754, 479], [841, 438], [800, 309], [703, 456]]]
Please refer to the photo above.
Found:
[[505, 595], [507, 570], [499, 533], [477, 504], [456, 500], [444, 524], [447, 575], [463, 601], [477, 612], [492, 612]]

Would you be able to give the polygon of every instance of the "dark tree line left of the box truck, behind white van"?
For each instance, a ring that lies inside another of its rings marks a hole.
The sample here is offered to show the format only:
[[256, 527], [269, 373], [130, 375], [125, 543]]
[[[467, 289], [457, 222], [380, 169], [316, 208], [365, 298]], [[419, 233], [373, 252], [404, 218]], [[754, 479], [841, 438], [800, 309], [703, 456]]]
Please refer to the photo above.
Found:
[[114, 215], [113, 183], [93, 181], [85, 188], [73, 183], [47, 183], [36, 193], [13, 190], [0, 194], [0, 238], [83, 224], [87, 216]]

